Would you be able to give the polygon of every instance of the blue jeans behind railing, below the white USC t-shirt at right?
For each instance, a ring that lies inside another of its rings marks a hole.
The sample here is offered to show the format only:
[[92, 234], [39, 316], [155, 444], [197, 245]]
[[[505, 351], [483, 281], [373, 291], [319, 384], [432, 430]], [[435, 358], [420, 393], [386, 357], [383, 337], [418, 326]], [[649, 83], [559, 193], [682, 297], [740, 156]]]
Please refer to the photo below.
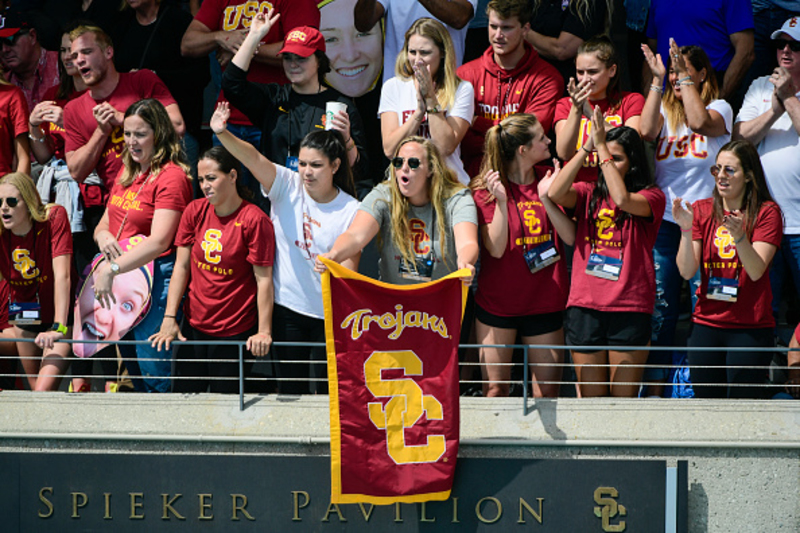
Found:
[[[678, 247], [681, 242], [681, 228], [674, 222], [663, 221], [658, 230], [656, 245], [653, 247], [653, 259], [656, 267], [656, 305], [653, 309], [653, 346], [674, 346], [675, 327], [680, 314], [681, 287], [683, 278], [678, 271], [675, 258], [678, 256]], [[692, 309], [697, 303], [696, 290], [700, 286], [700, 269], [692, 278]], [[650, 352], [647, 359], [650, 365], [680, 364], [685, 360], [683, 352], [658, 351]], [[645, 380], [671, 381], [674, 369], [648, 368], [645, 370]]]

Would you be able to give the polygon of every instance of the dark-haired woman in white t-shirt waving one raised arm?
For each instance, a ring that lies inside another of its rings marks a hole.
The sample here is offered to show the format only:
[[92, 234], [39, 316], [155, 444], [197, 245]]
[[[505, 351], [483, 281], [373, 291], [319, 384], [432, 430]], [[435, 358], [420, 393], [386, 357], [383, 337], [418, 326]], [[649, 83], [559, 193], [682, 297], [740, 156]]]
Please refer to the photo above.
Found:
[[[222, 145], [247, 167], [270, 200], [275, 228], [275, 341], [324, 342], [322, 282], [314, 271], [317, 255], [330, 250], [358, 209], [345, 139], [338, 131], [312, 131], [300, 143], [298, 171], [276, 164], [227, 130], [228, 104], [220, 103], [211, 129]], [[358, 254], [348, 261], [357, 268]], [[282, 393], [328, 390], [324, 347], [274, 346]], [[313, 378], [313, 381], [308, 381]]]

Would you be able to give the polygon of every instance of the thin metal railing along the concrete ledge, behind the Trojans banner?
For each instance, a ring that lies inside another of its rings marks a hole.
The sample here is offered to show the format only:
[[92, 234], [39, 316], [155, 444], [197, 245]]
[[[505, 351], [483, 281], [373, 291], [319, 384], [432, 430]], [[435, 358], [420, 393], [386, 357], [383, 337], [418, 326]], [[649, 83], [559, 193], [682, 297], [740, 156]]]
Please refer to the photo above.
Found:
[[[4, 342], [33, 342], [33, 339], [3, 339], [3, 341]], [[77, 341], [73, 341], [73, 340], [61, 340], [61, 341], [58, 341], [58, 342], [65, 342], [65, 343], [68, 343], [68, 344], [76, 344], [77, 343]], [[149, 344], [148, 341], [116, 341], [116, 342], [109, 342], [109, 341], [80, 341], [80, 343], [84, 343], [84, 344], [111, 344], [111, 345]], [[238, 350], [239, 350], [239, 376], [237, 378], [203, 377], [202, 379], [208, 380], [208, 381], [237, 379], [238, 383], [239, 383], [239, 409], [241, 411], [244, 410], [244, 394], [245, 394], [245, 376], [244, 376], [244, 362], [245, 362], [245, 359], [244, 358], [245, 358], [245, 354], [247, 353], [246, 349], [245, 349], [246, 343], [244, 341], [175, 341], [175, 342], [173, 342], [173, 345], [176, 346], [176, 347], [180, 346], [180, 345], [230, 345], [230, 346], [237, 346]], [[317, 342], [317, 343], [309, 343], [309, 342], [278, 342], [278, 341], [276, 341], [276, 342], [273, 342], [273, 346], [320, 347], [320, 346], [325, 346], [325, 343], [321, 343], [321, 342]], [[461, 348], [461, 349], [475, 349], [475, 350], [478, 350], [481, 347], [511, 348], [511, 349], [514, 349], [514, 350], [520, 350], [522, 352], [522, 361], [511, 362], [511, 363], [498, 363], [496, 365], [497, 366], [511, 366], [511, 367], [519, 365], [519, 366], [522, 367], [522, 379], [521, 380], [520, 379], [513, 379], [513, 377], [512, 377], [512, 379], [510, 379], [508, 381], [502, 381], [500, 383], [505, 383], [505, 384], [509, 384], [509, 385], [517, 385], [517, 386], [521, 387], [521, 389], [522, 389], [521, 399], [522, 399], [522, 402], [523, 402], [523, 411], [525, 411], [525, 412], [527, 412], [528, 400], [530, 398], [530, 385], [531, 385], [530, 367], [532, 367], [532, 366], [562, 367], [564, 369], [564, 374], [567, 375], [567, 376], [569, 376], [568, 371], [571, 370], [574, 367], [573, 363], [571, 363], [571, 362], [564, 362], [564, 363], [529, 363], [529, 361], [528, 361], [528, 350], [530, 350], [532, 348], [565, 350], [565, 353], [568, 352], [569, 350], [576, 350], [576, 351], [580, 351], [580, 352], [584, 352], [584, 353], [591, 353], [591, 352], [602, 351], [602, 350], [615, 350], [615, 351], [648, 350], [648, 351], [651, 351], [651, 352], [658, 352], [658, 351], [661, 351], [661, 352], [690, 352], [690, 351], [695, 351], [695, 352], [714, 352], [714, 351], [719, 351], [720, 350], [720, 348], [688, 348], [686, 346], [592, 346], [592, 345], [565, 346], [565, 345], [558, 345], [558, 344], [537, 344], [537, 345], [526, 345], [526, 344], [505, 344], [505, 345], [503, 345], [503, 344], [484, 344], [484, 345], [481, 345], [481, 344], [461, 344], [461, 345], [459, 345], [459, 348]], [[756, 350], [756, 351], [759, 351], [759, 352], [762, 352], [762, 353], [773, 353], [773, 354], [785, 355], [789, 351], [800, 351], [800, 348], [737, 347], [737, 348], [725, 348], [725, 350], [727, 350], [729, 352], [749, 352], [749, 351]], [[110, 351], [110, 353], [113, 353], [114, 355], [110, 356], [110, 357], [94, 356], [94, 357], [91, 358], [91, 360], [95, 361], [95, 362], [104, 362], [104, 361], [114, 362], [114, 363], [118, 362], [119, 358], [117, 357], [116, 352]], [[21, 356], [17, 356], [17, 355], [2, 355], [2, 354], [0, 354], [0, 363], [8, 362], [8, 361], [16, 362], [20, 358], [21, 358]], [[40, 359], [40, 358], [41, 358], [41, 356], [34, 357], [34, 359]], [[266, 356], [266, 357], [262, 357], [262, 358], [256, 358], [256, 357], [249, 356], [248, 359], [252, 360], [252, 361], [264, 361], [267, 364], [282, 362], [282, 361], [276, 361], [276, 360], [271, 359], [269, 355]], [[72, 360], [74, 361], [74, 360], [77, 360], [77, 359], [73, 357]], [[139, 360], [142, 361], [142, 360], [147, 360], [147, 359], [146, 358], [139, 358]], [[186, 362], [186, 363], [203, 362], [203, 363], [210, 363], [210, 364], [214, 364], [214, 363], [227, 363], [227, 364], [230, 364], [231, 363], [230, 360], [223, 360], [223, 359], [181, 359], [181, 361], [182, 362]], [[327, 364], [325, 361], [297, 361], [297, 362], [287, 361], [287, 362], [290, 362], [290, 363], [293, 363], [293, 364], [306, 364], [306, 365], [325, 365], [325, 364]], [[461, 367], [461, 369], [472, 367], [474, 369], [473, 371], [475, 373], [479, 373], [480, 372], [479, 369], [480, 369], [481, 363], [477, 362], [477, 361], [476, 362], [461, 361], [459, 363], [459, 366]], [[615, 366], [615, 365], [610, 365], [610, 364], [585, 364], [585, 365], [582, 365], [582, 366], [583, 367], [612, 367], [612, 366]], [[686, 368], [688, 365], [684, 366], [684, 365], [672, 365], [672, 364], [664, 364], [664, 365], [654, 365], [654, 364], [634, 365], [634, 364], [630, 364], [630, 365], [626, 365], [626, 366], [627, 367], [658, 368], [658, 369], [670, 369], [671, 370], [671, 369]], [[753, 366], [725, 366], [725, 367], [720, 367], [720, 366], [699, 366], [699, 365], [695, 365], [694, 367], [689, 367], [690, 372], [691, 372], [691, 368], [748, 369], [748, 368], [763, 368], [763, 367], [753, 367]], [[780, 375], [782, 373], [788, 372], [789, 368], [790, 367], [786, 366], [785, 364], [776, 363], [775, 362], [775, 357], [773, 355], [773, 361], [772, 361], [772, 363], [770, 364], [770, 367], [769, 367], [769, 370], [770, 370], [771, 374]], [[18, 372], [18, 373], [17, 372], [14, 372], [14, 373], [0, 373], [0, 378], [17, 378], [17, 377], [27, 378], [28, 376], [26, 374], [24, 374], [24, 373], [21, 373], [21, 371]], [[79, 374], [74, 374], [71, 371], [68, 371], [67, 374], [65, 375], [64, 379], [66, 381], [68, 379], [76, 378], [76, 377], [77, 378], [102, 379], [102, 380], [110, 380], [110, 381], [116, 380], [118, 378], [118, 376], [116, 374], [115, 375], [105, 375], [105, 374], [79, 375]], [[185, 380], [196, 379], [196, 378], [194, 378], [192, 376], [186, 376], [186, 377], [151, 376], [151, 377], [154, 377], [154, 378], [164, 377], [164, 378], [170, 379], [172, 381], [177, 381], [177, 380], [181, 380], [181, 379], [185, 379]], [[260, 381], [260, 382], [276, 382], [276, 383], [280, 383], [282, 381], [303, 381], [303, 382], [324, 381], [323, 379], [320, 379], [320, 378], [280, 378], [280, 377], [277, 377], [277, 376], [264, 376], [264, 375], [261, 375], [261, 374], [256, 374], [254, 376], [248, 376], [246, 379], [247, 379], [248, 382], [259, 382]], [[482, 381], [480, 379], [462, 380], [461, 381], [462, 385], [482, 386], [483, 383], [484, 383], [484, 381]], [[555, 385], [559, 385], [559, 387], [563, 387], [563, 386], [571, 387], [571, 386], [578, 385], [577, 381], [563, 379], [563, 378], [562, 378], [562, 380], [558, 380], [558, 381], [540, 381], [539, 383], [541, 383], [541, 384], [555, 384]], [[593, 382], [593, 383], [604, 384], [604, 385], [610, 385], [611, 384], [611, 382]], [[644, 385], [645, 383], [621, 383], [621, 382], [615, 382], [615, 384], [617, 384], [617, 385]], [[742, 385], [728, 384], [728, 383], [695, 383], [695, 384], [696, 385], [705, 385], [705, 386], [710, 386], [710, 387], [747, 386], [747, 387], [772, 389], [770, 391], [770, 393], [767, 394], [768, 397], [771, 397], [771, 396], [773, 396], [774, 394], [776, 394], [778, 392], [785, 391], [785, 387], [786, 387], [786, 385], [784, 383], [782, 383], [782, 382], [772, 382], [772, 381], [767, 382], [767, 383], [742, 384]], [[667, 383], [667, 385], [669, 385], [669, 383]], [[798, 386], [800, 386], [800, 385], [798, 385]], [[64, 385], [62, 385], [62, 388], [65, 388]]]

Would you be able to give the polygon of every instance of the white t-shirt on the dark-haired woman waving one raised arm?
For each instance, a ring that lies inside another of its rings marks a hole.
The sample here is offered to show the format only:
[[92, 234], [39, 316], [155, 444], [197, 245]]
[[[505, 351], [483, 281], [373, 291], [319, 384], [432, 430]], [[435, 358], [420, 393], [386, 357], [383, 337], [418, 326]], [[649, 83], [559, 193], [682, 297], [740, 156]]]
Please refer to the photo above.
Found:
[[275, 228], [275, 302], [301, 315], [324, 318], [320, 275], [314, 272], [317, 255], [330, 251], [350, 226], [358, 200], [344, 191], [326, 204], [315, 202], [300, 175], [275, 165], [277, 174], [267, 193]]

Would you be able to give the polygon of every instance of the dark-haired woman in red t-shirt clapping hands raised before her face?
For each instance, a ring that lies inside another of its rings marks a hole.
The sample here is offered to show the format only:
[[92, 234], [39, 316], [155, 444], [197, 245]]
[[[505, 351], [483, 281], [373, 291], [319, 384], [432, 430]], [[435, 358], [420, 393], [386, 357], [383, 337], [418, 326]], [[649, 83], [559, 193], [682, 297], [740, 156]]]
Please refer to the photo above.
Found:
[[[574, 183], [584, 159], [577, 153], [549, 190], [577, 220], [567, 343], [646, 346], [655, 300], [652, 248], [664, 193], [653, 182], [636, 130], [620, 126], [606, 133], [599, 107], [591, 129], [600, 158], [597, 183]], [[647, 350], [573, 350], [572, 358], [581, 396], [635, 396]]]

